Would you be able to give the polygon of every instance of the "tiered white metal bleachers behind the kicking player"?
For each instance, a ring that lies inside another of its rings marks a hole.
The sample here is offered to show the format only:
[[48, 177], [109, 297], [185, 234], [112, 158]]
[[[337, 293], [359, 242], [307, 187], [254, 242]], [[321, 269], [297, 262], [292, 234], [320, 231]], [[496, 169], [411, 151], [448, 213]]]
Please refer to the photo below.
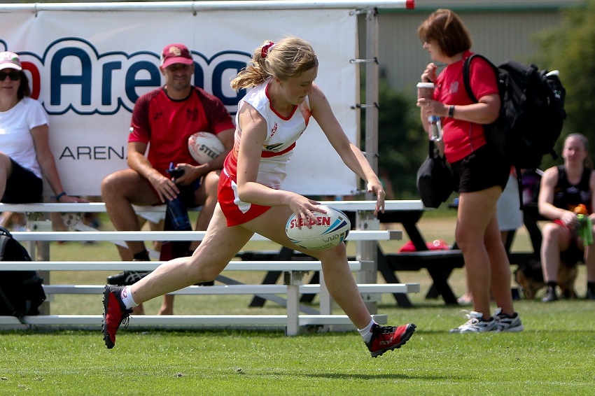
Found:
[[[391, 203], [392, 202], [392, 203]], [[398, 202], [398, 204], [395, 204]], [[328, 204], [341, 208], [342, 210], [370, 210], [375, 202], [372, 201], [337, 201]], [[418, 208], [420, 201], [387, 201], [387, 209], [399, 207], [404, 209]], [[159, 213], [159, 207], [139, 207], [139, 212]], [[105, 211], [103, 203], [88, 204], [0, 204], [0, 211], [25, 212], [29, 215], [34, 213], [85, 213]], [[202, 240], [205, 232], [52, 232], [52, 231], [24, 231], [13, 232], [15, 239], [21, 242], [27, 241], [153, 241], [169, 240], [183, 241], [188, 239]], [[349, 239], [358, 243], [376, 243], [379, 240], [400, 239], [401, 231], [377, 229], [356, 229], [349, 233]], [[253, 241], [266, 241], [267, 239], [255, 234]], [[374, 245], [375, 246], [375, 245]], [[360, 257], [358, 257], [360, 258]], [[57, 262], [50, 260], [34, 262], [0, 262], [0, 271], [19, 269], [32, 269], [36, 271], [151, 271], [158, 267], [161, 262], [122, 262], [122, 261], [72, 261]], [[365, 276], [376, 272], [376, 263], [370, 260], [350, 261], [349, 266], [358, 276], [358, 287], [365, 299], [378, 293], [411, 293], [419, 292], [419, 283], [369, 283], [365, 282]], [[214, 285], [209, 287], [190, 286], [172, 294], [179, 295], [257, 295], [264, 297], [277, 304], [286, 306], [286, 315], [184, 315], [184, 316], [134, 316], [131, 325], [282, 325], [286, 327], [286, 334], [295, 335], [304, 326], [323, 326], [326, 330], [339, 330], [353, 328], [351, 321], [345, 315], [332, 315], [332, 300], [328, 290], [324, 286], [321, 276], [320, 284], [303, 285], [302, 278], [309, 271], [321, 271], [321, 263], [318, 261], [232, 261], [225, 271], [283, 271], [283, 285], [244, 285], [232, 278], [221, 274], [218, 280], [226, 285]], [[362, 281], [362, 278], [364, 281]], [[100, 294], [104, 285], [44, 285], [48, 295], [55, 294]], [[300, 304], [302, 294], [320, 295], [320, 310], [311, 306]], [[281, 297], [286, 295], [286, 298]], [[373, 300], [372, 300], [373, 301]], [[386, 316], [376, 315], [374, 318], [379, 323], [386, 323]], [[27, 325], [100, 325], [102, 317], [97, 315], [41, 315], [25, 318]], [[17, 318], [0, 316], [0, 325], [20, 325]], [[21, 325], [22, 326], [22, 325]]]

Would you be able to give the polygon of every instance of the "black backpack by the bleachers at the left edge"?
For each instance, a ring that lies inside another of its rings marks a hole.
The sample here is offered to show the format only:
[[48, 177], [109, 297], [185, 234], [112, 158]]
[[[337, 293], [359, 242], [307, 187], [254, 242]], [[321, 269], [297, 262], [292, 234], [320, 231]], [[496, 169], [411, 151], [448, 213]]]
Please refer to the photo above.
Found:
[[[0, 261], [31, 261], [31, 257], [17, 240], [0, 227]], [[0, 271], [0, 315], [16, 316], [25, 323], [25, 316], [39, 315], [45, 301], [43, 279], [36, 271]]]

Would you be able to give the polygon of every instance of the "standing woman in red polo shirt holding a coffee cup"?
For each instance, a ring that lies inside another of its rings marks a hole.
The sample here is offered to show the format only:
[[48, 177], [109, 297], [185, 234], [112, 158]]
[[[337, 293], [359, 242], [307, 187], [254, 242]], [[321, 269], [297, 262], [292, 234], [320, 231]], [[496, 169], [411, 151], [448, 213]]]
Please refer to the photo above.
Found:
[[[452, 329], [454, 333], [523, 330], [514, 311], [510, 292], [510, 263], [496, 216], [496, 201], [508, 180], [510, 164], [486, 144], [484, 125], [498, 118], [500, 97], [496, 74], [483, 59], [470, 68], [470, 85], [475, 103], [465, 92], [463, 63], [472, 52], [465, 25], [451, 10], [436, 10], [418, 29], [423, 48], [434, 62], [421, 74], [423, 82], [434, 83], [433, 99], [419, 98], [423, 126], [428, 116], [442, 119], [440, 143], [454, 170], [458, 185], [456, 243], [463, 251], [468, 284], [473, 295], [473, 311], [468, 321]], [[437, 64], [446, 67], [437, 74]], [[490, 288], [498, 309], [490, 310]]]

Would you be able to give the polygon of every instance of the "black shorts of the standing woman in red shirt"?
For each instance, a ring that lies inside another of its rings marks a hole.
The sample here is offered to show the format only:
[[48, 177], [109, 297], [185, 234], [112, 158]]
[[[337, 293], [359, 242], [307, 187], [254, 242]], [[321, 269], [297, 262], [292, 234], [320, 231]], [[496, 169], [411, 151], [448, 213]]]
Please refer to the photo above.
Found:
[[499, 185], [506, 187], [510, 175], [507, 164], [489, 144], [478, 148], [463, 160], [451, 164], [458, 192], [475, 192]]

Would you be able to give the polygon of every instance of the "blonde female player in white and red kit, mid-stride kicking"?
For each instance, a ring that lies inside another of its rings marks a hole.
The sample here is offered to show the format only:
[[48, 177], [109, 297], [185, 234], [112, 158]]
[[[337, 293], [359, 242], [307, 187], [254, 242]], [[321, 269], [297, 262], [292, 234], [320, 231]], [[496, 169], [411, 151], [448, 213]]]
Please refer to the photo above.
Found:
[[325, 95], [314, 84], [317, 73], [316, 54], [300, 38], [266, 41], [256, 48], [252, 64], [231, 83], [235, 90], [252, 88], [238, 104], [235, 146], [225, 160], [219, 203], [207, 234], [191, 257], [166, 262], [134, 285], [106, 286], [103, 333], [108, 348], [116, 343], [118, 327], [133, 306], [213, 280], [255, 232], [322, 262], [330, 295], [356, 325], [373, 357], [400, 348], [412, 336], [412, 323], [398, 327], [374, 323], [347, 264], [344, 243], [314, 251], [296, 246], [286, 236], [284, 227], [292, 213], [303, 220], [314, 220], [316, 212], [324, 213], [318, 202], [281, 190], [295, 141], [310, 117], [318, 122], [346, 166], [376, 195], [374, 214], [384, 211], [379, 178], [347, 139]]

